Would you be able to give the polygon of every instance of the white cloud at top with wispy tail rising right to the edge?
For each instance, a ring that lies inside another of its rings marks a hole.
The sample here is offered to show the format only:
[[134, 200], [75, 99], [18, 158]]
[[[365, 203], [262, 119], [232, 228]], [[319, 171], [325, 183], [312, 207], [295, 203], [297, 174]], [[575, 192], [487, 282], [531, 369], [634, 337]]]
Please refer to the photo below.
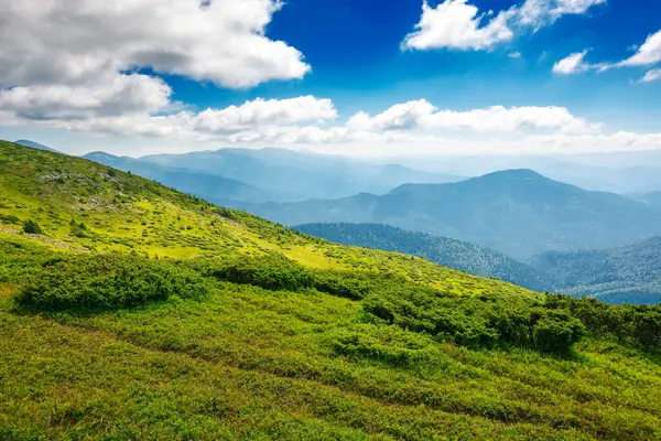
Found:
[[415, 31], [405, 36], [402, 46], [414, 50], [490, 50], [508, 42], [527, 28], [550, 25], [565, 14], [584, 14], [606, 0], [525, 0], [521, 7], [494, 14], [481, 12], [468, 0], [445, 0], [435, 8], [426, 0]]

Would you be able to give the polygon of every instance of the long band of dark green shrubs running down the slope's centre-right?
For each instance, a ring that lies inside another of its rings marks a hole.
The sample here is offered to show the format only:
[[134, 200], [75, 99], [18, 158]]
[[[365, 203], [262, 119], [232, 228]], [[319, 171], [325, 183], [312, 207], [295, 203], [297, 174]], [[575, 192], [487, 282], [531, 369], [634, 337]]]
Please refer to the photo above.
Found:
[[567, 353], [585, 326], [567, 311], [538, 300], [458, 297], [392, 273], [314, 270], [280, 255], [197, 262], [220, 280], [270, 290], [316, 290], [361, 300], [368, 320], [384, 321], [466, 346], [524, 346]]

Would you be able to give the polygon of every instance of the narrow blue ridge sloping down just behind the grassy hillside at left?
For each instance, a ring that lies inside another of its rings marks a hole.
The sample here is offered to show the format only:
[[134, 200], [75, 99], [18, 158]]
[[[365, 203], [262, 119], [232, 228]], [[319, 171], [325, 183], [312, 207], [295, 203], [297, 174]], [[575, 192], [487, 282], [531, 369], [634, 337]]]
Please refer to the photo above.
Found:
[[105, 152], [87, 153], [83, 158], [127, 172], [130, 171], [214, 203], [232, 205], [230, 200], [264, 202], [279, 198], [275, 192], [268, 192], [236, 180], [162, 166], [132, 158], [115, 157]]

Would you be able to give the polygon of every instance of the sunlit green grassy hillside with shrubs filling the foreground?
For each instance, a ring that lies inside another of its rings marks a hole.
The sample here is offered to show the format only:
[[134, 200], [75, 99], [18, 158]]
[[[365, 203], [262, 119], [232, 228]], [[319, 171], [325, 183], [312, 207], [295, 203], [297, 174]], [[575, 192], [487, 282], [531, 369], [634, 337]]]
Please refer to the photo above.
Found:
[[0, 195], [0, 439], [661, 437], [659, 309], [330, 245], [4, 142]]

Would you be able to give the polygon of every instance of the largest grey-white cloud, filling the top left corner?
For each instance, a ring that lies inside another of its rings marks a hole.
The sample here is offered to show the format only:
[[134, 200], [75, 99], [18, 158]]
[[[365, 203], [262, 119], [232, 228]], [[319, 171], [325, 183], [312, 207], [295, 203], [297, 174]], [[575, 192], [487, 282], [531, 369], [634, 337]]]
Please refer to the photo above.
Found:
[[134, 67], [249, 87], [301, 78], [264, 34], [277, 0], [0, 0], [0, 84], [97, 84]]

